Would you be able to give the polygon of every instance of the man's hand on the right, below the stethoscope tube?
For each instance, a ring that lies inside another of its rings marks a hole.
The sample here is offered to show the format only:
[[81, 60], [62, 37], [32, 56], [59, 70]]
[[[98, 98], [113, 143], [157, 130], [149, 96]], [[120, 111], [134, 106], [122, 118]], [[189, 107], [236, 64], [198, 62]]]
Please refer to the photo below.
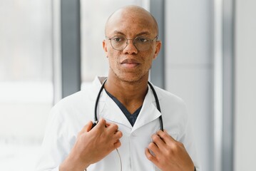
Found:
[[193, 161], [185, 150], [183, 143], [174, 140], [165, 130], [159, 130], [151, 138], [153, 142], [150, 142], [148, 148], [145, 149], [145, 155], [160, 170], [194, 170]]

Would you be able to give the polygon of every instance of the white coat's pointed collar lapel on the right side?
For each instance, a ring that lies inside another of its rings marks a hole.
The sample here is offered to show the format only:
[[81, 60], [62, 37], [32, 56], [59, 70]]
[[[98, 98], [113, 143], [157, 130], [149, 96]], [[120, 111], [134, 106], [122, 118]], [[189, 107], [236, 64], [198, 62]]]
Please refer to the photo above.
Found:
[[158, 108], [155, 106], [155, 98], [152, 93], [152, 90], [149, 88], [148, 93], [145, 96], [143, 106], [140, 110], [137, 120], [133, 125], [133, 131], [137, 130], [138, 128], [152, 122], [155, 119], [158, 119], [161, 113], [159, 112]]

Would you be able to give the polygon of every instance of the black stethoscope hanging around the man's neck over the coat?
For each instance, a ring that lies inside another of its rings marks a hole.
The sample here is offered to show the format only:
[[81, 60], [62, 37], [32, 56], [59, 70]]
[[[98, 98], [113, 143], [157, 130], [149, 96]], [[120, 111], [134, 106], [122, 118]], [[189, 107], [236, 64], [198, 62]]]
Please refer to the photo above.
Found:
[[[107, 79], [103, 82], [102, 86], [101, 86], [101, 89], [98, 91], [98, 95], [97, 95], [97, 98], [96, 98], [96, 103], [95, 103], [95, 108], [94, 108], [94, 123], [93, 123], [93, 126], [96, 126], [96, 124], [98, 123], [98, 117], [97, 117], [97, 107], [98, 107], [98, 100], [100, 99], [101, 97], [101, 92], [104, 88], [104, 85], [106, 83]], [[156, 94], [155, 92], [155, 88], [153, 88], [152, 84], [148, 81], [148, 85], [150, 86], [152, 92], [153, 92], [153, 95], [154, 95], [154, 98], [155, 98], [155, 103], [156, 103], [156, 108], [158, 108], [158, 111], [161, 113], [161, 110], [160, 110], [160, 104], [159, 104], [159, 100], [158, 100], [158, 95]], [[162, 115], [159, 116], [159, 123], [160, 123], [160, 130], [163, 130], [163, 119], [162, 119]], [[118, 152], [118, 157], [119, 157], [119, 167], [120, 167], [120, 170], [122, 171], [122, 160], [121, 160], [121, 155], [118, 151], [118, 149], [116, 149], [116, 152]]]

